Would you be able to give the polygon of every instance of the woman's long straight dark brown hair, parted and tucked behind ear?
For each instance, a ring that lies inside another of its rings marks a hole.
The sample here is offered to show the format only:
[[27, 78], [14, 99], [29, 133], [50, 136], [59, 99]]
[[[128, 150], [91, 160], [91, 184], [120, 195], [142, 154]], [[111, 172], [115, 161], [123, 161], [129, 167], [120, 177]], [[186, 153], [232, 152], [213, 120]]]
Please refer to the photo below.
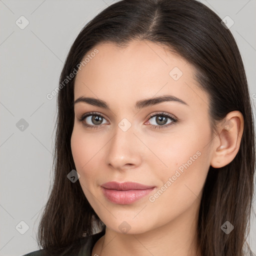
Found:
[[[254, 120], [248, 85], [231, 32], [212, 10], [196, 0], [121, 0], [97, 14], [74, 40], [59, 79], [54, 179], [39, 223], [38, 244], [51, 254], [67, 248], [71, 251], [84, 234], [93, 233], [93, 218], [96, 223], [101, 222], [80, 183], [67, 178], [75, 169], [70, 147], [75, 76], [65, 79], [99, 42], [125, 47], [132, 39], [168, 47], [196, 67], [199, 86], [210, 96], [213, 129], [228, 112], [239, 110], [243, 114], [244, 130], [236, 156], [224, 167], [209, 167], [197, 234], [201, 255], [244, 255], [255, 169]], [[229, 234], [220, 228], [226, 220], [234, 226]]]

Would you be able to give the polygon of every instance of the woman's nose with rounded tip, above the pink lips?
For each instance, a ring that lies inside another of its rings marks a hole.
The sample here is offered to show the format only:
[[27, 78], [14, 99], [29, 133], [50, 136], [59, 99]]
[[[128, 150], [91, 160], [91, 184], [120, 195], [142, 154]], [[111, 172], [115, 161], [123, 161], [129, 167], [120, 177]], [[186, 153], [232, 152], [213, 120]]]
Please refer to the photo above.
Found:
[[107, 147], [107, 165], [119, 171], [135, 168], [141, 163], [142, 152], [145, 150], [135, 135], [137, 132], [132, 126], [124, 131], [118, 125], [114, 132]]

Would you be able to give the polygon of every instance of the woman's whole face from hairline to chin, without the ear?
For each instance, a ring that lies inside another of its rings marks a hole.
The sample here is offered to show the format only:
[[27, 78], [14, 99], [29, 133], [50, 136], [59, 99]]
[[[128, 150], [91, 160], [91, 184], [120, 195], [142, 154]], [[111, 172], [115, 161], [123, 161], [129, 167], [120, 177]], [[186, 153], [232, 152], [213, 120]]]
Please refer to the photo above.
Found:
[[[80, 100], [71, 136], [90, 205], [108, 228], [129, 233], [196, 211], [212, 151], [209, 99], [194, 79], [194, 67], [149, 41], [95, 48], [98, 53], [75, 78], [74, 100]], [[144, 101], [163, 95], [168, 100]], [[104, 185], [110, 181], [147, 187], [120, 185], [115, 188], [124, 190], [118, 191]]]

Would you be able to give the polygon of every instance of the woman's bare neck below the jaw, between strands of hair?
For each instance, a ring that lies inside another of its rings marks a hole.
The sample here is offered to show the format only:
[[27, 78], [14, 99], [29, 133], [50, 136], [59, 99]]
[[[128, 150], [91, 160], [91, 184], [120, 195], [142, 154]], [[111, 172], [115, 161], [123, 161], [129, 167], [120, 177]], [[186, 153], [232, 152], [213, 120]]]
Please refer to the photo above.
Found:
[[198, 209], [192, 205], [171, 221], [144, 233], [120, 233], [106, 227], [91, 255], [117, 256], [121, 252], [122, 256], [200, 256], [199, 251], [196, 254]]

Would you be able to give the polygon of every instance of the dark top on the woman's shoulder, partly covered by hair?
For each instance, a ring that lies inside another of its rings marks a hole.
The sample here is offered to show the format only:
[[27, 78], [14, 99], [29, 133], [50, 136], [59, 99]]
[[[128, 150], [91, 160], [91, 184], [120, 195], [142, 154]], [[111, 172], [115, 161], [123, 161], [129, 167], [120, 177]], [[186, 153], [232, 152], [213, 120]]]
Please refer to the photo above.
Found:
[[92, 234], [90, 236], [85, 236], [79, 240], [79, 245], [77, 248], [77, 253], [70, 255], [68, 254], [55, 254], [50, 255], [47, 253], [44, 249], [35, 250], [32, 252], [29, 252], [27, 254], [24, 254], [22, 256], [91, 256], [92, 248], [96, 241], [105, 234], [105, 230], [102, 230], [99, 233]]

